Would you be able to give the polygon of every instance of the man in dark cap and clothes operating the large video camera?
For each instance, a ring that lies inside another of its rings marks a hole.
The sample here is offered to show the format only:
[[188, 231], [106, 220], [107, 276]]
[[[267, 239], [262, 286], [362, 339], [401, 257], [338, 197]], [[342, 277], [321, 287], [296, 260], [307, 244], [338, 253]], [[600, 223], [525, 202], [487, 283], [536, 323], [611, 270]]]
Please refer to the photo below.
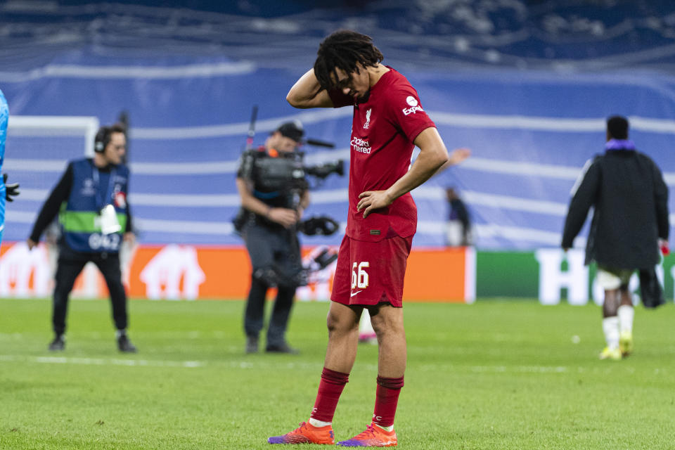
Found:
[[[309, 204], [309, 191], [302, 172], [302, 153], [295, 150], [303, 134], [297, 120], [281, 124], [264, 146], [243, 153], [237, 172], [242, 210], [236, 226], [252, 265], [244, 315], [247, 353], [258, 351], [266, 293], [275, 286], [278, 293], [267, 327], [266, 352], [297, 353], [288, 346], [285, 332], [295, 289], [302, 284], [297, 224]], [[301, 176], [288, 182], [292, 178], [288, 172]]]

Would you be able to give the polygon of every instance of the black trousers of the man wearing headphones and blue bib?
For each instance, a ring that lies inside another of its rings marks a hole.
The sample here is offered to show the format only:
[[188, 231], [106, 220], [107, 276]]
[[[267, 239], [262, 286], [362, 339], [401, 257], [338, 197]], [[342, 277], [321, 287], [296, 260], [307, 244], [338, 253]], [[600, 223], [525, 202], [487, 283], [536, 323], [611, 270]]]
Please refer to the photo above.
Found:
[[84, 269], [84, 264], [90, 261], [96, 264], [105, 278], [105, 284], [108, 285], [115, 327], [117, 330], [127, 328], [127, 293], [122, 284], [120, 255], [108, 252], [75, 252], [66, 245], [60, 245], [51, 316], [53, 330], [57, 335], [65, 333], [68, 299], [72, 286], [75, 284], [75, 278]]

